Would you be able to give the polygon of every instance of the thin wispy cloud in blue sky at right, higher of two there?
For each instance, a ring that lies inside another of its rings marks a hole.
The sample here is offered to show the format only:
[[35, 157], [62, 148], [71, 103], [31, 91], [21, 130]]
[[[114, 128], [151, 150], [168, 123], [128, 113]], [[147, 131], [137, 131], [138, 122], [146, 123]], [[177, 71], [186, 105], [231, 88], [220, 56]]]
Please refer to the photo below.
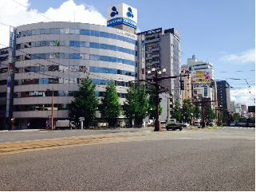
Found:
[[233, 63], [245, 65], [246, 63], [255, 62], [255, 49], [249, 49], [242, 53], [225, 55], [220, 58], [223, 63]]

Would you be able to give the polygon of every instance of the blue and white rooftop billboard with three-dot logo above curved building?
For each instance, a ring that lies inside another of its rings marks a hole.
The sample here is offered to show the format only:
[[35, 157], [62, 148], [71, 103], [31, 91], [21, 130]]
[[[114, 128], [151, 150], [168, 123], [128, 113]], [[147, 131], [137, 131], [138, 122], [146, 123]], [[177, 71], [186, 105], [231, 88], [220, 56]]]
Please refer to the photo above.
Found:
[[120, 3], [107, 9], [107, 26], [128, 25], [137, 28], [137, 10], [132, 6]]

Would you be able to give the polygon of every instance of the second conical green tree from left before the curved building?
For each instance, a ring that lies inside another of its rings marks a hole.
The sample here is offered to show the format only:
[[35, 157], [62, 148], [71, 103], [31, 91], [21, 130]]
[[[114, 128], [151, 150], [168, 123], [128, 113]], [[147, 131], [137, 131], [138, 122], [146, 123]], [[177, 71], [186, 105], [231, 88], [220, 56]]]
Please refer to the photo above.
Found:
[[121, 105], [119, 103], [119, 96], [116, 92], [116, 86], [112, 80], [108, 81], [105, 88], [103, 98], [101, 98], [100, 114], [101, 117], [108, 120], [108, 127], [115, 126], [116, 118], [121, 114]]

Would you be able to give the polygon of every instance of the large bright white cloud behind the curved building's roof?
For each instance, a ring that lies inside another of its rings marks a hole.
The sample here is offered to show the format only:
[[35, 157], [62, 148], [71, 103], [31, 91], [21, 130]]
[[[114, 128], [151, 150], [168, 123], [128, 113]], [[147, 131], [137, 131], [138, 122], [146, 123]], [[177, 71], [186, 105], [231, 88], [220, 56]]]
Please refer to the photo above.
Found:
[[[18, 3], [22, 4], [18, 4]], [[93, 6], [76, 5], [73, 0], [63, 2], [57, 8], [49, 8], [45, 13], [38, 13], [31, 10], [29, 0], [0, 1], [0, 48], [9, 45], [10, 27], [6, 25], [18, 26], [35, 22], [83, 22], [96, 25], [106, 25], [104, 18]], [[26, 7], [25, 7], [26, 6]], [[6, 24], [6, 25], [3, 25]]]

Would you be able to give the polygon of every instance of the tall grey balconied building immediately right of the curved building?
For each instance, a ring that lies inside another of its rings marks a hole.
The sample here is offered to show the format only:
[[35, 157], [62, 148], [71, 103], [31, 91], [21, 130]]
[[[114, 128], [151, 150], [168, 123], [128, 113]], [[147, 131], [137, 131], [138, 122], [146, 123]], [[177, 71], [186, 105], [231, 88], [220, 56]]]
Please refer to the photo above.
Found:
[[[158, 28], [138, 34], [139, 78], [145, 79], [147, 72], [166, 69], [166, 76], [178, 76], [181, 72], [180, 35], [176, 29]], [[140, 68], [141, 67], [141, 68]], [[161, 85], [169, 88], [173, 100], [180, 104], [179, 78], [162, 80]]]

